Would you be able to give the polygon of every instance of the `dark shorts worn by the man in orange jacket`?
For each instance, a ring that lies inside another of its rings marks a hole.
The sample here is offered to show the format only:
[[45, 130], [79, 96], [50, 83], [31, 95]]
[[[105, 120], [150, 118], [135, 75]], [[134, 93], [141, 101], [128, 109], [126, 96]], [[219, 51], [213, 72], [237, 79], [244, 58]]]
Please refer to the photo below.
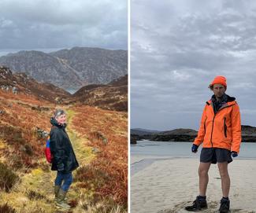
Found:
[[200, 162], [202, 163], [231, 163], [231, 152], [228, 149], [221, 148], [202, 148]]

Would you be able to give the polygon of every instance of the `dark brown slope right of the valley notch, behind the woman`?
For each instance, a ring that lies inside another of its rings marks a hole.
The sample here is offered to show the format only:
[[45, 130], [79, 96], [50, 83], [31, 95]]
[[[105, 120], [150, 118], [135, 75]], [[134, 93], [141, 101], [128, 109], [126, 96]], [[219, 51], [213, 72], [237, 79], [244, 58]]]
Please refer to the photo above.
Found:
[[80, 102], [82, 105], [124, 111], [128, 110], [128, 75], [124, 75], [106, 85], [92, 84], [83, 86], [65, 103]]

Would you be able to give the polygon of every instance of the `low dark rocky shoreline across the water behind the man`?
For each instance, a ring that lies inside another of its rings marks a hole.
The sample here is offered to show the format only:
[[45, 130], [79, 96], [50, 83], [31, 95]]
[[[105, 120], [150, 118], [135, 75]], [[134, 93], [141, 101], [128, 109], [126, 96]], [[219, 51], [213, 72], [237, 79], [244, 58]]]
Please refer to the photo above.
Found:
[[[241, 126], [242, 129], [242, 142], [256, 142], [256, 127], [246, 125]], [[192, 129], [175, 129], [163, 131], [158, 133], [149, 134], [132, 134], [131, 143], [135, 141], [147, 139], [150, 141], [194, 141], [197, 136], [197, 131]]]

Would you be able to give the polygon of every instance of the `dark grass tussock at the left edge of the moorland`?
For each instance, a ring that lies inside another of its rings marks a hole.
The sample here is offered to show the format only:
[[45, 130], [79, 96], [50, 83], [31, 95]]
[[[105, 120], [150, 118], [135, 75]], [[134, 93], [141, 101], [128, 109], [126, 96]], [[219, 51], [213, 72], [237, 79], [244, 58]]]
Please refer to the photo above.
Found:
[[6, 167], [5, 164], [0, 163], [0, 189], [8, 193], [18, 180], [17, 174]]

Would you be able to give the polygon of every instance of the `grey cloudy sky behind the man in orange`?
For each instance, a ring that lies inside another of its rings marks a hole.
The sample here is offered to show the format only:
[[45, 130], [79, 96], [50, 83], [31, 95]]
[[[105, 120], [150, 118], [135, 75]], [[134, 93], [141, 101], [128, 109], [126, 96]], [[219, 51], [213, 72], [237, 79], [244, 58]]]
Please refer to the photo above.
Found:
[[131, 0], [131, 12], [132, 128], [197, 130], [216, 75], [256, 127], [256, 1]]

